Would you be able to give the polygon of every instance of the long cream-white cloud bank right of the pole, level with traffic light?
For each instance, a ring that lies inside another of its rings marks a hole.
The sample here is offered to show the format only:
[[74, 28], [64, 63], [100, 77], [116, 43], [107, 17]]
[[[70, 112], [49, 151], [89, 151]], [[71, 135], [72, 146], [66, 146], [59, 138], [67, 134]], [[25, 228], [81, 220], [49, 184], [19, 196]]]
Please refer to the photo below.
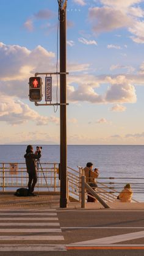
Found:
[[[131, 76], [135, 78], [135, 76]], [[96, 88], [101, 84], [109, 84], [103, 95], [96, 92]], [[135, 103], [137, 96], [135, 87], [130, 79], [124, 75], [115, 76], [69, 76], [68, 77], [68, 101], [72, 102], [90, 102], [96, 104], [107, 103]]]

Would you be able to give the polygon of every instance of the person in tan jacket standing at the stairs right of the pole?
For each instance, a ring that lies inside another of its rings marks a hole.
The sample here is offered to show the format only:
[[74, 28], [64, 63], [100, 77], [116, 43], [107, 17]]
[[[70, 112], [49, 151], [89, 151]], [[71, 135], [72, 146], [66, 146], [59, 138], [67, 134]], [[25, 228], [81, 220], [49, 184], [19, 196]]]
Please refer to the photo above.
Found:
[[[98, 178], [98, 175], [99, 175], [98, 169], [95, 168], [93, 170], [93, 164], [88, 162], [87, 166], [84, 167], [84, 172], [85, 172], [85, 181], [88, 183], [88, 185], [90, 185], [93, 188], [93, 190], [96, 190], [98, 186], [96, 185], [95, 178]], [[92, 194], [90, 194], [90, 192], [88, 192], [88, 195], [87, 195], [87, 202], [96, 202], [96, 199], [92, 196]]]

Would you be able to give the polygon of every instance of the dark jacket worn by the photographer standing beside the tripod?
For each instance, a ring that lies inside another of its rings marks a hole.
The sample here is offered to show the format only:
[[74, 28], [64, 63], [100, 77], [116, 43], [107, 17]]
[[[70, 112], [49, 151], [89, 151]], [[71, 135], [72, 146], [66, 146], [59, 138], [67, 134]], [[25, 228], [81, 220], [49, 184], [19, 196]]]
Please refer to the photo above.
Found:
[[34, 154], [33, 152], [29, 152], [29, 153], [26, 153], [26, 155], [24, 155], [24, 158], [26, 158], [27, 172], [29, 174], [34, 174], [37, 171], [37, 163], [35, 159], [38, 159], [40, 157], [41, 157], [40, 152], [38, 152], [37, 154]]

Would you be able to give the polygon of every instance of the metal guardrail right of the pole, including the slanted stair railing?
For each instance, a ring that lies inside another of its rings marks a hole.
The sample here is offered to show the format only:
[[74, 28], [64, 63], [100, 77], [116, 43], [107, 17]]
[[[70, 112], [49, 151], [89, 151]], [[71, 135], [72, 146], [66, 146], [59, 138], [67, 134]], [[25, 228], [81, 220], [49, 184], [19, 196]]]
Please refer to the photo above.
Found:
[[[73, 196], [77, 199], [77, 201], [81, 202], [81, 176], [82, 176], [82, 167], [79, 167], [79, 170], [74, 170], [70, 167], [68, 169], [74, 172], [73, 176], [68, 175], [68, 191], [69, 194], [73, 194]], [[118, 180], [121, 180], [118, 182]], [[137, 182], [141, 180], [141, 182]], [[98, 188], [96, 189], [96, 194], [98, 194], [101, 199], [105, 202], [113, 202], [117, 199], [118, 194], [120, 194], [121, 190], [124, 188], [126, 183], [131, 183], [133, 196], [135, 194], [143, 194], [143, 183], [144, 178], [135, 178], [135, 177], [99, 177], [96, 178], [96, 183], [98, 184]], [[139, 185], [139, 187], [135, 187], [135, 185]], [[70, 188], [71, 187], [71, 188]], [[85, 191], [85, 197], [87, 192]], [[132, 198], [132, 202], [139, 202]]]

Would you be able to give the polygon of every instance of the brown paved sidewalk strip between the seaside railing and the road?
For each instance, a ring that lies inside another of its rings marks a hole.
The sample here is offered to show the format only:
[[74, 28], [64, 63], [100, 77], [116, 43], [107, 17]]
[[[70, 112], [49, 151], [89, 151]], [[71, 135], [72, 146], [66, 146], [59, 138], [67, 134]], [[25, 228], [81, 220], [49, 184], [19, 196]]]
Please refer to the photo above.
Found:
[[[32, 208], [32, 207], [55, 207], [59, 208], [59, 195], [43, 195], [36, 197], [16, 197], [13, 194], [0, 194], [0, 208]], [[99, 203], [85, 203], [85, 210], [144, 210], [144, 203], [108, 203], [110, 209], [104, 209]], [[81, 203], [69, 202], [67, 210], [84, 210]], [[61, 208], [63, 210], [63, 208]]]

